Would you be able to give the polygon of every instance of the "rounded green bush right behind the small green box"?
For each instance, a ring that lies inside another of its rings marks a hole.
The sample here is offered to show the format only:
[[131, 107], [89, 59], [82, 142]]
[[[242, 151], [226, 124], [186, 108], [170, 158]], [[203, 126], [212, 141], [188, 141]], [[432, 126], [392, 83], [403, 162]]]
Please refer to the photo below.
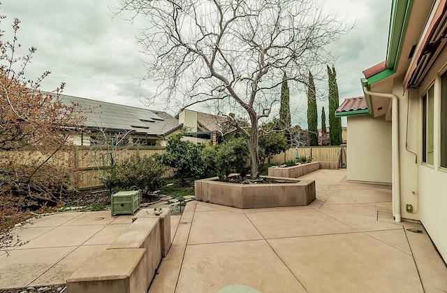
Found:
[[153, 157], [140, 157], [133, 155], [125, 159], [121, 164], [115, 164], [108, 177], [105, 186], [108, 190], [143, 190], [150, 192], [163, 186], [161, 178], [168, 170]]

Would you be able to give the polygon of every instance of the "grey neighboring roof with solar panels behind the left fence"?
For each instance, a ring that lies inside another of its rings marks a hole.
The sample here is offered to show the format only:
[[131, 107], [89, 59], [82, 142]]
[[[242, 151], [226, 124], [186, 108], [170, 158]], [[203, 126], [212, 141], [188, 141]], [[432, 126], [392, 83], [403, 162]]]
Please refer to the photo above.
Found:
[[76, 103], [87, 117], [86, 126], [105, 131], [131, 131], [135, 134], [159, 136], [178, 127], [178, 120], [168, 113], [131, 106], [60, 95], [66, 104]]

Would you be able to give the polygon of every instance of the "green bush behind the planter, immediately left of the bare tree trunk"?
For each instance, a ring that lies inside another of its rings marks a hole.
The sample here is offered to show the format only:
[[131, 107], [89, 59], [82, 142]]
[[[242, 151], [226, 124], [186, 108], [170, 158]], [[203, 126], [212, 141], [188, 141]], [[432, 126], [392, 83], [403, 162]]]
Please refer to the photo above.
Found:
[[244, 138], [234, 138], [217, 145], [214, 165], [221, 181], [228, 181], [230, 173], [239, 173], [242, 178], [247, 175], [249, 166], [249, 147]]

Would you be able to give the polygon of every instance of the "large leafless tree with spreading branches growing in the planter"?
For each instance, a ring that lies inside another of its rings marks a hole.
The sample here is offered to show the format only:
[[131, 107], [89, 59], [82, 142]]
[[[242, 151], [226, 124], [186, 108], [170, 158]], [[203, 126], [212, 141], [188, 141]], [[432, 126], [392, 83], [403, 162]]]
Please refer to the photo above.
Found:
[[278, 102], [283, 77], [307, 83], [309, 69], [332, 60], [325, 46], [349, 31], [314, 2], [122, 0], [117, 13], [145, 25], [145, 78], [161, 85], [154, 99], [184, 108], [214, 100], [220, 113], [246, 112], [249, 129], [228, 119], [247, 138], [257, 178], [259, 120]]

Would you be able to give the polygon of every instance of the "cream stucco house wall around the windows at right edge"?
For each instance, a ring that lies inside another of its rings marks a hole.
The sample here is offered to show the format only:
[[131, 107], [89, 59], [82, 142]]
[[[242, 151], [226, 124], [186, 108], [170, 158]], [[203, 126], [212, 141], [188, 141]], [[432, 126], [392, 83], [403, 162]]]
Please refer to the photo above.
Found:
[[[440, 166], [441, 153], [441, 75], [447, 72], [447, 48], [444, 48], [436, 61], [432, 64], [430, 70], [425, 75], [420, 87], [409, 91], [409, 99], [402, 99], [400, 106], [401, 113], [405, 107], [405, 102], [410, 101], [409, 114], [409, 142], [415, 146], [414, 149], [418, 154], [418, 162], [415, 164], [415, 157], [403, 157], [401, 164], [402, 170], [402, 210], [404, 211], [407, 203], [413, 204], [413, 213], [402, 213], [402, 217], [420, 220], [423, 223], [432, 241], [436, 244], [439, 252], [447, 259], [447, 212], [444, 207], [447, 207], [447, 169]], [[423, 129], [423, 103], [421, 97], [427, 92], [430, 86], [434, 86], [434, 160], [433, 164], [426, 164], [421, 162], [422, 158], [422, 129]], [[400, 87], [395, 88], [395, 94], [400, 91], [402, 94], [402, 83]], [[406, 109], [405, 109], [406, 110]], [[405, 115], [400, 115], [402, 120]], [[414, 127], [414, 122], [417, 126]], [[402, 124], [405, 125], [405, 124]], [[403, 136], [405, 127], [401, 127], [401, 137]], [[402, 144], [401, 144], [402, 145]], [[405, 145], [401, 147], [401, 154], [406, 155]], [[445, 150], [444, 150], [445, 151]], [[401, 158], [402, 158], [401, 157]], [[409, 165], [412, 165], [409, 168]], [[416, 177], [417, 174], [417, 177]], [[416, 186], [414, 186], [416, 185]], [[412, 190], [405, 190], [405, 187], [413, 186]]]

